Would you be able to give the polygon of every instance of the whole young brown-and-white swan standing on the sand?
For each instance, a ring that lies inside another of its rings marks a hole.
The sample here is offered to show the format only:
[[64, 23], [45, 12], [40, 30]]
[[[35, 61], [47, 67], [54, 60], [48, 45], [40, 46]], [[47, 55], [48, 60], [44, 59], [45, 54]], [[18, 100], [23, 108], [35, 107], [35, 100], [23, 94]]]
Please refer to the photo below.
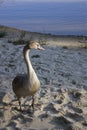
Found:
[[[24, 46], [23, 55], [27, 65], [27, 74], [20, 74], [16, 76], [12, 82], [13, 91], [18, 98], [20, 110], [21, 110], [21, 97], [32, 96], [39, 90], [40, 81], [31, 65], [29, 59], [30, 49], [42, 49], [43, 48], [37, 42], [30, 42]], [[34, 98], [32, 102], [32, 107], [34, 109]]]

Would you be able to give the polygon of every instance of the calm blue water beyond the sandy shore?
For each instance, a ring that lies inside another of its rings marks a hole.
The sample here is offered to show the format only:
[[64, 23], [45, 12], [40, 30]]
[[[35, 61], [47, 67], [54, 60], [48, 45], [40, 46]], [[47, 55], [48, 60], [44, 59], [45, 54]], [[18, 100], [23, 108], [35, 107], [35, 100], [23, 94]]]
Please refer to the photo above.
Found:
[[87, 36], [87, 2], [8, 0], [0, 4], [0, 25], [32, 32]]

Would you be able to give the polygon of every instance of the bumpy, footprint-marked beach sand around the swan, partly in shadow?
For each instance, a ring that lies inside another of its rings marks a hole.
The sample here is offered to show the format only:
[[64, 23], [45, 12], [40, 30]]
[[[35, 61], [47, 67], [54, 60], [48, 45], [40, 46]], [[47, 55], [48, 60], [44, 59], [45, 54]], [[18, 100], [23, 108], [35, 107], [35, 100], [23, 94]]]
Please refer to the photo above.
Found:
[[24, 45], [8, 42], [19, 38], [20, 30], [4, 29], [8, 35], [0, 38], [0, 130], [86, 130], [87, 50], [82, 48], [86, 41], [27, 32], [26, 39], [31, 34], [35, 40], [41, 37], [45, 50], [30, 53], [41, 89], [35, 95], [35, 112], [29, 107], [31, 97], [26, 97], [21, 99], [21, 113], [11, 84], [18, 73], [26, 73]]

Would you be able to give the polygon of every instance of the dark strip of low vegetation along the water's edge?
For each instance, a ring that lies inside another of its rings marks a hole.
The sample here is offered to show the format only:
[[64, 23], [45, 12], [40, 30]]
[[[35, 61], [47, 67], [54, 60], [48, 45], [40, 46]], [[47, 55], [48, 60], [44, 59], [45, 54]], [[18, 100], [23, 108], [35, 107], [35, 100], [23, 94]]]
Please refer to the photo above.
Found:
[[[20, 34], [17, 34], [20, 33]], [[15, 35], [16, 40], [13, 40], [12, 38], [8, 39], [9, 43], [13, 43], [14, 45], [22, 45], [25, 43], [28, 43], [30, 40], [33, 40], [33, 35], [35, 35], [36, 37], [38, 37], [38, 42], [40, 42], [42, 45], [46, 45], [47, 44], [47, 38], [68, 38], [70, 40], [72, 39], [78, 39], [80, 43], [85, 43], [84, 46], [82, 46], [83, 48], [87, 48], [87, 36], [83, 36], [83, 35], [53, 35], [53, 34], [46, 34], [46, 33], [38, 33], [38, 32], [30, 32], [30, 31], [25, 31], [25, 30], [21, 30], [21, 29], [16, 29], [16, 28], [12, 28], [12, 27], [7, 27], [7, 26], [2, 26], [0, 25], [0, 38], [4, 38], [8, 35]], [[29, 35], [29, 38], [26, 39], [25, 35]]]

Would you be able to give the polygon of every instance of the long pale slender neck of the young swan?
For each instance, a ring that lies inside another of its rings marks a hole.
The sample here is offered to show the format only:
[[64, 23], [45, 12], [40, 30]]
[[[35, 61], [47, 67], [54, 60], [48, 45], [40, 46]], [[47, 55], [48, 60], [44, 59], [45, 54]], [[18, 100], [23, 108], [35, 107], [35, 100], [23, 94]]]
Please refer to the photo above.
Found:
[[27, 46], [25, 46], [23, 50], [23, 54], [24, 54], [26, 65], [27, 65], [27, 75], [28, 75], [28, 78], [30, 79], [32, 76], [32, 73], [35, 73], [35, 71], [30, 61], [29, 52], [30, 52], [30, 49], [27, 49]]

